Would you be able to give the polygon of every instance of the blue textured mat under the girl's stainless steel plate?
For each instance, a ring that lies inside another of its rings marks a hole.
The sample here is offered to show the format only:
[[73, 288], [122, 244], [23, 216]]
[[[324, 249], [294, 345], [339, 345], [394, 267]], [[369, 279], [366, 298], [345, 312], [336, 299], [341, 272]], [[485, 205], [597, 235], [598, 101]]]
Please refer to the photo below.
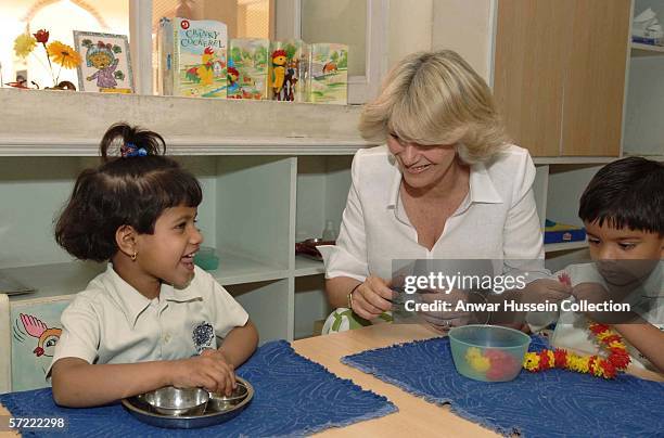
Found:
[[[235, 418], [203, 429], [163, 429], [139, 422], [119, 403], [91, 409], [59, 408], [51, 388], [0, 396], [14, 417], [65, 417], [67, 436], [299, 436], [395, 412], [385, 397], [341, 379], [297, 355], [285, 340], [264, 345], [238, 370], [255, 389]], [[23, 430], [23, 436], [43, 431]]]

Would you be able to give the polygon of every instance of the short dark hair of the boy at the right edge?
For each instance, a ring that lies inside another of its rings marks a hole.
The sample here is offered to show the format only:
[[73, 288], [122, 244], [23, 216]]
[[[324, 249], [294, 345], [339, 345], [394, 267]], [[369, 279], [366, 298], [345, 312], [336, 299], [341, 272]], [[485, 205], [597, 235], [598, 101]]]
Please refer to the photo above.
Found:
[[664, 235], [664, 164], [627, 157], [602, 167], [582, 195], [578, 216]]

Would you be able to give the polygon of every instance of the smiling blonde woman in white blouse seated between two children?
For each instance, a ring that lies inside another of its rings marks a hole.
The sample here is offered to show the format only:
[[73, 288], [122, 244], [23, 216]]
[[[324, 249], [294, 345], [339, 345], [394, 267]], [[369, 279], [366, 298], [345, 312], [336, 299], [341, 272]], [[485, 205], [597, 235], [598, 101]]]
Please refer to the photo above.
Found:
[[[355, 155], [336, 246], [319, 247], [328, 299], [352, 307], [350, 327], [391, 309], [393, 259], [544, 259], [533, 160], [509, 143], [489, 88], [459, 54], [408, 55], [359, 129], [386, 145]], [[324, 332], [340, 330], [340, 315]]]

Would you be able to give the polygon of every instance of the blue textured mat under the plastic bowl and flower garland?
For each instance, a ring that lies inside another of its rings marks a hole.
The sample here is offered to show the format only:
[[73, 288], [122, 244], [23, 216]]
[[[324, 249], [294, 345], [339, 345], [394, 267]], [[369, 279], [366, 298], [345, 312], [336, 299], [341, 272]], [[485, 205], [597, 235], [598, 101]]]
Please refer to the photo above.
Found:
[[[544, 343], [534, 338], [531, 350]], [[342, 362], [498, 433], [525, 437], [664, 436], [664, 384], [615, 381], [563, 370], [522, 371], [505, 383], [476, 382], [455, 370], [448, 338], [363, 351]]]

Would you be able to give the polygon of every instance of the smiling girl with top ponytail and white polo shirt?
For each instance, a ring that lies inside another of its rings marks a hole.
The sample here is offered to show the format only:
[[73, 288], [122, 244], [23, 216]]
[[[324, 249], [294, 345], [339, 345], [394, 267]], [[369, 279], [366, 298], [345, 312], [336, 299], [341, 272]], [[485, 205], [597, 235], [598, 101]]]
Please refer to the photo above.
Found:
[[59, 404], [104, 404], [167, 385], [230, 394], [234, 368], [256, 349], [247, 313], [193, 263], [203, 194], [165, 150], [155, 132], [112, 126], [102, 164], [79, 175], [58, 220], [55, 240], [69, 254], [110, 261], [62, 314], [49, 370]]

